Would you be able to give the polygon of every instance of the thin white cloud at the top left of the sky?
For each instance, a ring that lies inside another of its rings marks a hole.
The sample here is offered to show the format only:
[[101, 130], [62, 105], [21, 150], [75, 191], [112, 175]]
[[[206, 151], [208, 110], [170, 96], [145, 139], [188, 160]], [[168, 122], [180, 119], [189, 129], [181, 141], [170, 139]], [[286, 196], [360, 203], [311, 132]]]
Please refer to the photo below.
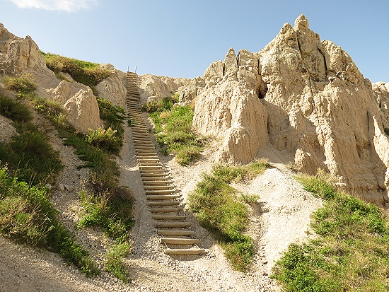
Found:
[[98, 0], [8, 0], [19, 8], [37, 8], [50, 11], [76, 12], [91, 8]]

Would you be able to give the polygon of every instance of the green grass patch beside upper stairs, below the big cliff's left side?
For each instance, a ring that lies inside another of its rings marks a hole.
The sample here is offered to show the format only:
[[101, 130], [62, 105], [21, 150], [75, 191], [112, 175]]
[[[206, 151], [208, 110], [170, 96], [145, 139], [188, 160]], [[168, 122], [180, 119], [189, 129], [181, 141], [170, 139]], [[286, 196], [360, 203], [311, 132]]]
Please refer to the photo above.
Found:
[[174, 153], [181, 165], [190, 165], [200, 156], [204, 139], [192, 132], [193, 111], [190, 106], [175, 105], [176, 95], [146, 103], [143, 110], [151, 112], [156, 141], [166, 154]]

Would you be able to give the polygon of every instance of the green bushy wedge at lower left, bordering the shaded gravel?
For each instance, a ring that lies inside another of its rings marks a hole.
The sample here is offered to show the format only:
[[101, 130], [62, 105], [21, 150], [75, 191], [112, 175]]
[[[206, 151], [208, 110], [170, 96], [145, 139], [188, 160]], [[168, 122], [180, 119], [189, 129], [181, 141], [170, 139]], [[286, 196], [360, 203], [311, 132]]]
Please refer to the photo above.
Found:
[[88, 252], [58, 220], [48, 196], [47, 189], [32, 187], [0, 168], [0, 232], [21, 243], [58, 252], [87, 276], [98, 274]]

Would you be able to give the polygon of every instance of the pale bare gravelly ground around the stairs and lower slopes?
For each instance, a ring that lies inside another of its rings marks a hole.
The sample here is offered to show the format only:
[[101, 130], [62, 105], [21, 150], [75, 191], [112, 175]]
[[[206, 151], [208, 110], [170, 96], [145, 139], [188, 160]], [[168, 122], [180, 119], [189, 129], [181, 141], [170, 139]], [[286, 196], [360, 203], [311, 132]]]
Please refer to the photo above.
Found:
[[[260, 204], [252, 209], [248, 234], [254, 238], [257, 255], [248, 274], [234, 271], [219, 245], [192, 217], [193, 230], [207, 254], [202, 256], [168, 256], [158, 242], [156, 229], [146, 205], [134, 146], [129, 129], [117, 162], [122, 170], [122, 185], [132, 189], [135, 198], [136, 226], [131, 232], [134, 249], [126, 262], [131, 268], [132, 282], [128, 285], [103, 272], [102, 276], [87, 279], [77, 269], [64, 264], [58, 255], [30, 249], [0, 237], [0, 292], [5, 291], [279, 291], [269, 274], [279, 252], [298, 239], [306, 238], [310, 212], [320, 206], [320, 200], [305, 192], [282, 165], [266, 170], [264, 175], [247, 184], [236, 184], [238, 190], [259, 194]], [[53, 202], [66, 226], [73, 228], [79, 210], [77, 189], [85, 170], [76, 170], [81, 162], [61, 139], [52, 139], [62, 153], [66, 167], [59, 182], [74, 187], [71, 192], [54, 192]], [[171, 171], [184, 202], [200, 175], [211, 169], [215, 142], [203, 153], [202, 160], [191, 167], [175, 163], [172, 156], [159, 155]], [[95, 257], [103, 254], [105, 238], [95, 230], [77, 231], [77, 238]]]

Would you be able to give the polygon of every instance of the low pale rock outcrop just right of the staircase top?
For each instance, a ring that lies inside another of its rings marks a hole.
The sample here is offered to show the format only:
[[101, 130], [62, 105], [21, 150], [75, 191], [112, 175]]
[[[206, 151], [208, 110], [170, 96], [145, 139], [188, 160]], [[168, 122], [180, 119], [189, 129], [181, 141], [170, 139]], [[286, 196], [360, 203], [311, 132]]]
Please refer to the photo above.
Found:
[[180, 92], [190, 79], [156, 76], [151, 74], [138, 75], [138, 90], [141, 103], [151, 100], [161, 100], [174, 93]]

